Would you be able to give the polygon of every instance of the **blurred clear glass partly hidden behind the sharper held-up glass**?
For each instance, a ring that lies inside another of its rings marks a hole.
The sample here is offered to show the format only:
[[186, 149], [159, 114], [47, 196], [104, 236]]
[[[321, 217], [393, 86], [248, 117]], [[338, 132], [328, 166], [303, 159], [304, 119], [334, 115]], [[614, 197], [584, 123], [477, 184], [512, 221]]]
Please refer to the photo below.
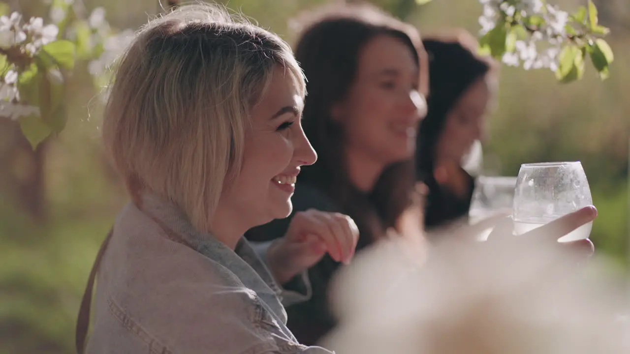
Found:
[[[514, 200], [516, 177], [479, 176], [475, 183], [473, 200], [468, 212], [471, 224], [495, 215], [497, 212], [510, 210]], [[479, 234], [479, 241], [486, 241], [493, 227]]]

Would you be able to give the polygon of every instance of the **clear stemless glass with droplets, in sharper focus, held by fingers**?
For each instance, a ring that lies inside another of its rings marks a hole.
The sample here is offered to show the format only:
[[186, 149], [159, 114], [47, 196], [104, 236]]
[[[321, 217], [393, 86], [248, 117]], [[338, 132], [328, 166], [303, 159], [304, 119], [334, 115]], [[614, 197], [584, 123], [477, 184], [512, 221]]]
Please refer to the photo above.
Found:
[[[513, 203], [514, 232], [524, 234], [592, 203], [579, 161], [522, 164]], [[593, 222], [584, 224], [558, 241], [587, 239], [592, 227]]]

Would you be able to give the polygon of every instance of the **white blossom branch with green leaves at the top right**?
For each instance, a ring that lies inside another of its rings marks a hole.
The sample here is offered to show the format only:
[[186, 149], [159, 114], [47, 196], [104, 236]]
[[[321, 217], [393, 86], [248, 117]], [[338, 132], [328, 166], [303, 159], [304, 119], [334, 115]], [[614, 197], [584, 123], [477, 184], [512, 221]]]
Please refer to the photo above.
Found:
[[483, 4], [481, 50], [508, 66], [548, 68], [560, 81], [580, 79], [584, 57], [590, 55], [602, 79], [614, 60], [604, 41], [597, 8], [589, 0], [574, 14], [542, 0], [479, 0]]

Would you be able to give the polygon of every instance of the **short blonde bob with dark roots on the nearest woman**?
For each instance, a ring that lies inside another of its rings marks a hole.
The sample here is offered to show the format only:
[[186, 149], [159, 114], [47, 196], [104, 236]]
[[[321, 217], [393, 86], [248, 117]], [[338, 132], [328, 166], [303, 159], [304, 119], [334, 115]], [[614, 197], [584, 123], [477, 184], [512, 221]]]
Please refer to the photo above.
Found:
[[144, 26], [118, 63], [103, 119], [132, 198], [155, 193], [209, 231], [239, 173], [251, 108], [278, 66], [304, 96], [289, 45], [219, 6], [181, 6]]

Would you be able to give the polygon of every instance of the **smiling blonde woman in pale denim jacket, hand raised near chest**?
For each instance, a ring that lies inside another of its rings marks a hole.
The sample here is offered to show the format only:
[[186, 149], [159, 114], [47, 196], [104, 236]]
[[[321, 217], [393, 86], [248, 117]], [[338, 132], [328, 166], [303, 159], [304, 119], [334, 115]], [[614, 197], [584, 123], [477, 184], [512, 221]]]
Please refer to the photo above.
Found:
[[324, 254], [350, 260], [352, 219], [311, 210], [271, 245], [242, 236], [290, 214], [295, 177], [316, 161], [289, 46], [183, 6], [138, 33], [116, 77], [103, 138], [132, 202], [97, 256], [77, 350], [98, 270], [88, 353], [329, 353], [297, 343], [281, 300], [309, 296], [303, 274]]

